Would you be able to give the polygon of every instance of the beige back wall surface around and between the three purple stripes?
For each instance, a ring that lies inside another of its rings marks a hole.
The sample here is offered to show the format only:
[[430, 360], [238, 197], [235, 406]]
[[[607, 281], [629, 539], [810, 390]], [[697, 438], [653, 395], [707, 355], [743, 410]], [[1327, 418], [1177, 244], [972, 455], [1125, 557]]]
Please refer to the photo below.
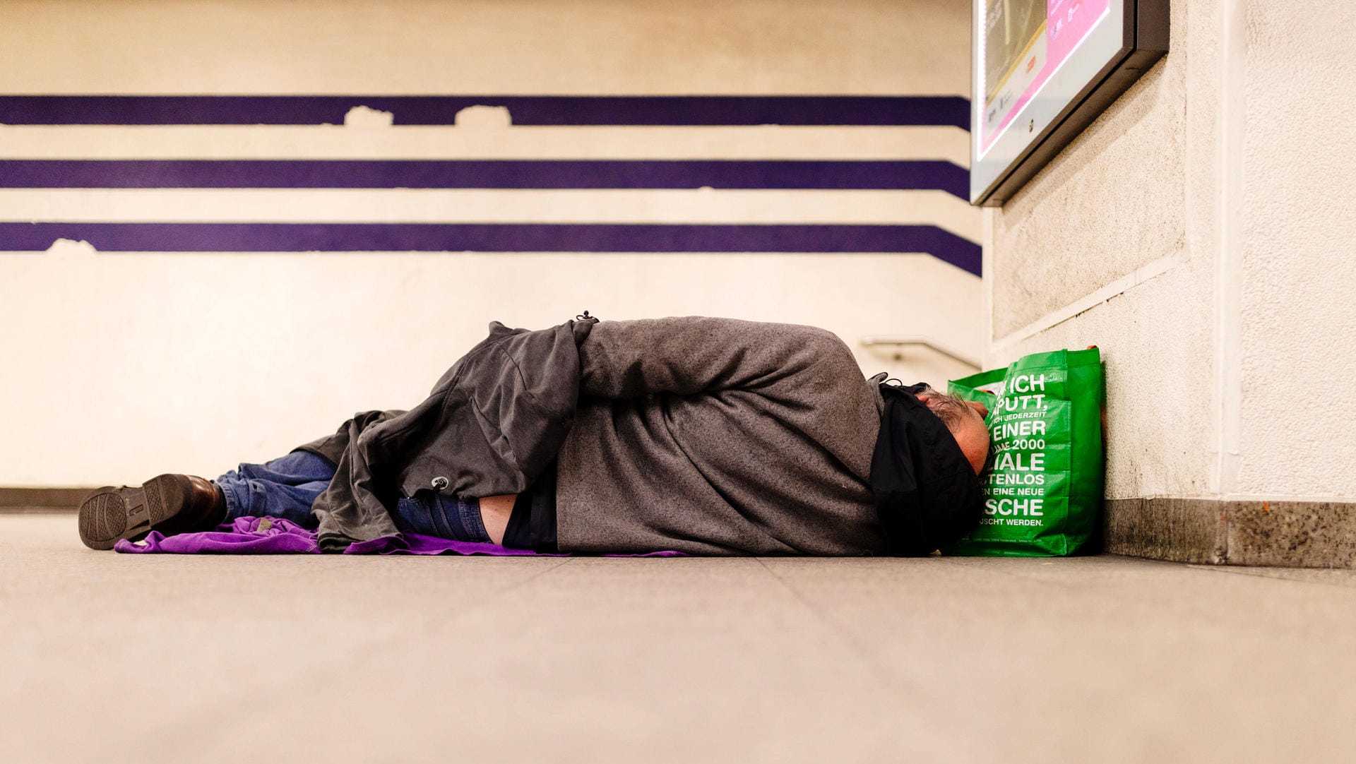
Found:
[[[968, 4], [12, 1], [3, 93], [956, 93]], [[494, 121], [491, 121], [494, 122]], [[5, 158], [949, 158], [953, 127], [24, 127]], [[932, 222], [936, 191], [0, 191], [0, 221]], [[868, 371], [970, 370], [979, 279], [926, 255], [0, 255], [0, 485], [214, 475], [418, 402], [491, 318], [818, 324]]]

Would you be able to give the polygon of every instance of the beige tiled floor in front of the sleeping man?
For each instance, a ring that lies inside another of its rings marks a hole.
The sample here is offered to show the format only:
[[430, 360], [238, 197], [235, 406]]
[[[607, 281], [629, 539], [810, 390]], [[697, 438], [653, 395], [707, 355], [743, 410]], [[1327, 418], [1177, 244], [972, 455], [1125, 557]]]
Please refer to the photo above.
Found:
[[0, 760], [1351, 761], [1356, 572], [119, 555], [0, 516]]

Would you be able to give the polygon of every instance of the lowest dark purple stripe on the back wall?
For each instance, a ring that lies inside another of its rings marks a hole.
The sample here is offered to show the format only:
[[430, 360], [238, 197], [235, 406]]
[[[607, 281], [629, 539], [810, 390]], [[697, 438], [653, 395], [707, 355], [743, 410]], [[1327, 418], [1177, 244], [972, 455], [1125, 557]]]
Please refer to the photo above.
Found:
[[925, 252], [979, 275], [979, 245], [929, 225], [0, 224], [0, 251]]

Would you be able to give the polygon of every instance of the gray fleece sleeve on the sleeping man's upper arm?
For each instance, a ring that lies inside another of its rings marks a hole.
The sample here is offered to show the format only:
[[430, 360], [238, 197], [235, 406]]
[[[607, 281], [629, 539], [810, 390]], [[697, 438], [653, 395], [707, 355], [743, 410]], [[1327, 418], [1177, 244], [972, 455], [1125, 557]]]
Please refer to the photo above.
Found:
[[862, 383], [833, 332], [735, 318], [603, 321], [579, 345], [579, 360], [580, 394], [594, 398], [738, 389], [812, 405], [835, 387]]

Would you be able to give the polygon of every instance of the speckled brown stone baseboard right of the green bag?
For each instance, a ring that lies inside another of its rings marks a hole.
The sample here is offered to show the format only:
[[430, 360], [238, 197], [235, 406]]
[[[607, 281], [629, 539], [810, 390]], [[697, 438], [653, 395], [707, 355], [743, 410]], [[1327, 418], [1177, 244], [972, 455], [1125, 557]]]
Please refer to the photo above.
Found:
[[1356, 568], [1356, 503], [1111, 498], [1112, 554], [1276, 568]]

